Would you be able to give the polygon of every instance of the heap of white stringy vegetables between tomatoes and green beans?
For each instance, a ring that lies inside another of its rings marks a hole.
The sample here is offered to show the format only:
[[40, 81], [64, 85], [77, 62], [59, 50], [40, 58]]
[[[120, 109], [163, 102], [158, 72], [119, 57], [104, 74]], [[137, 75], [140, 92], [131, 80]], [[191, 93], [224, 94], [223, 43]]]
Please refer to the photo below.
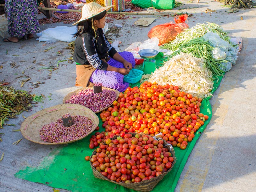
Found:
[[152, 73], [148, 82], [177, 85], [181, 91], [201, 98], [212, 96], [212, 72], [203, 59], [183, 52], [164, 62]]

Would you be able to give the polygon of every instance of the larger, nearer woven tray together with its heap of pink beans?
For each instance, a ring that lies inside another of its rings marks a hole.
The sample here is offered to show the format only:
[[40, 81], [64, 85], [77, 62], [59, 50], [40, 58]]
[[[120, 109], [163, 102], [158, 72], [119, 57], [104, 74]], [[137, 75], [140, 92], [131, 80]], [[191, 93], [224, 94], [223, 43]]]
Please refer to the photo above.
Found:
[[[72, 115], [72, 116], [71, 116]], [[73, 124], [65, 126], [63, 119], [71, 117]], [[43, 145], [59, 145], [81, 140], [99, 124], [92, 110], [77, 104], [55, 105], [26, 118], [20, 128], [24, 138]]]

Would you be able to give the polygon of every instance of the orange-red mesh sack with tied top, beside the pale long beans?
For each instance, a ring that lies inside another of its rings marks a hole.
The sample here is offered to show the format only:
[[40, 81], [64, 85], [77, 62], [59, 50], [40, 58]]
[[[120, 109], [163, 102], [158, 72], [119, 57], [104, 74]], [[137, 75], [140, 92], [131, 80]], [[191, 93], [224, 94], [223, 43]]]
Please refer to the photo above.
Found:
[[180, 15], [174, 18], [176, 23], [171, 21], [170, 23], [156, 25], [148, 32], [148, 37], [157, 37], [159, 39], [158, 46], [174, 40], [180, 32], [189, 28], [188, 24], [185, 23], [187, 17], [187, 15]]

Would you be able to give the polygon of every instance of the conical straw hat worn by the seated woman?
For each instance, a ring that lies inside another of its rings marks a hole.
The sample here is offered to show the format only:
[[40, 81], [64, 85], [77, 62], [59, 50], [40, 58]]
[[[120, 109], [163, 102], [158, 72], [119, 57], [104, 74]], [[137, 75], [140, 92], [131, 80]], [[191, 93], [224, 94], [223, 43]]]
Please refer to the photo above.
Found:
[[77, 23], [84, 21], [86, 19], [89, 19], [95, 15], [100, 14], [103, 11], [108, 11], [109, 9], [111, 9], [112, 7], [114, 7], [114, 5], [111, 6], [107, 6], [107, 7], [103, 7], [95, 2], [90, 2], [87, 3], [83, 6], [82, 8], [82, 16], [81, 19], [79, 21], [77, 21], [76, 23], [74, 23], [73, 25], [76, 25]]

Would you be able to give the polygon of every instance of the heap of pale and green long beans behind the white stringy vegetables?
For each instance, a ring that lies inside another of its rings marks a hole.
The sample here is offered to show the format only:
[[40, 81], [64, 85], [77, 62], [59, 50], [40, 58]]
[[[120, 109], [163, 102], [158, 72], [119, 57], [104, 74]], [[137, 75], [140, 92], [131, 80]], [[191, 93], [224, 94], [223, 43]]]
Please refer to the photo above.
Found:
[[[170, 58], [180, 54], [180, 52], [191, 53], [197, 58], [204, 58], [206, 67], [211, 70], [213, 75], [223, 76], [224, 72], [231, 69], [231, 63], [226, 60], [226, 57], [222, 60], [214, 57], [212, 54], [214, 45], [209, 38], [205, 38], [207, 32], [216, 33], [222, 40], [226, 41], [230, 45], [228, 50], [231, 48], [235, 50], [234, 47], [238, 47], [238, 44], [232, 44], [228, 34], [215, 23], [197, 24], [195, 27], [185, 29], [171, 43], [164, 44], [164, 47], [172, 51]], [[235, 54], [237, 55], [238, 52]]]

